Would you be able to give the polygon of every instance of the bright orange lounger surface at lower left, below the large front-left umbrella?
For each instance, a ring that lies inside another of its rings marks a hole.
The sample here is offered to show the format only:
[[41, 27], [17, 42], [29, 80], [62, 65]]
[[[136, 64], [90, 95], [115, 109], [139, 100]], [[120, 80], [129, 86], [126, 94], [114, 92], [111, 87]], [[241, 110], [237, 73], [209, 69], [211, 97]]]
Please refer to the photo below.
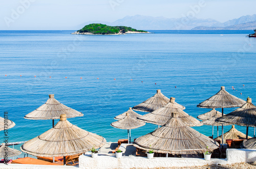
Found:
[[14, 164], [36, 164], [36, 165], [60, 165], [44, 160], [38, 160], [31, 157], [25, 157], [25, 158], [18, 158], [16, 160], [13, 160], [12, 163]]

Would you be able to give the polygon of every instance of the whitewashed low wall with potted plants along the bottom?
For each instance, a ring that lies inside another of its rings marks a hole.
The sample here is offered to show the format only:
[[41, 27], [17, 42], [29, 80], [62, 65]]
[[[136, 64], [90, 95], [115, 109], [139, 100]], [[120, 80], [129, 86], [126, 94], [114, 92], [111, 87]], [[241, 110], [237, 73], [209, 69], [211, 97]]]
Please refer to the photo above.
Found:
[[90, 155], [81, 155], [79, 157], [79, 168], [158, 168], [158, 167], [182, 167], [182, 166], [203, 166], [212, 164], [231, 164], [239, 162], [256, 161], [256, 150], [248, 149], [227, 149], [226, 159], [212, 158], [206, 161], [203, 158], [165, 158], [155, 157], [147, 159], [146, 157], [123, 156], [115, 158], [112, 156], [101, 155], [92, 158]]

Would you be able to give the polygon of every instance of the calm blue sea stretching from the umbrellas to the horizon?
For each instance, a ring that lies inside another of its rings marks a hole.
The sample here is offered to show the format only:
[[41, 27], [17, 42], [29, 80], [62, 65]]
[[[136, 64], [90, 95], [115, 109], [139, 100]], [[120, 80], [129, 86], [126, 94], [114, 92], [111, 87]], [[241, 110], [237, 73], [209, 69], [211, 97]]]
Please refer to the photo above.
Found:
[[[256, 38], [246, 37], [253, 31], [95, 36], [72, 32], [0, 31], [0, 114], [7, 111], [16, 123], [9, 130], [9, 142], [32, 139], [52, 127], [51, 120], [24, 119], [48, 100], [48, 94], [84, 114], [69, 118], [72, 124], [107, 141], [126, 138], [126, 130], [110, 126], [114, 117], [157, 89], [168, 98], [175, 97], [194, 117], [210, 110], [196, 106], [221, 86], [256, 103]], [[134, 129], [132, 139], [156, 128], [146, 124]], [[194, 128], [211, 135], [211, 126]], [[224, 127], [224, 132], [230, 128]], [[246, 131], [246, 127], [236, 128]], [[3, 141], [4, 133], [0, 135]], [[253, 136], [253, 128], [249, 135]]]

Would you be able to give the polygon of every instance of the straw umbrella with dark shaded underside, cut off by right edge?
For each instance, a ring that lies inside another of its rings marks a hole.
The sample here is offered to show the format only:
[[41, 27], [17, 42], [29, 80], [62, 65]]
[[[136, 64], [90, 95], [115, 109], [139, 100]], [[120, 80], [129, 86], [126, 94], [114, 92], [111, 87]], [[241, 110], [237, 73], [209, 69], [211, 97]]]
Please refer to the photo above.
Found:
[[246, 139], [248, 139], [248, 127], [256, 127], [256, 106], [251, 103], [251, 98], [247, 98], [240, 108], [217, 119], [219, 122], [246, 126]]

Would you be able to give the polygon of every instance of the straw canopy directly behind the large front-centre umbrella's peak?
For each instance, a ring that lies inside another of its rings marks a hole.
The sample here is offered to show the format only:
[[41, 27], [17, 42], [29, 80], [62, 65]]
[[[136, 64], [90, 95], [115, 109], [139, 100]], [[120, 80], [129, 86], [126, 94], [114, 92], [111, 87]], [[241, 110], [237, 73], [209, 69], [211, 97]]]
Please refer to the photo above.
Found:
[[152, 123], [155, 125], [163, 126], [168, 122], [170, 118], [172, 118], [171, 116], [172, 112], [177, 112], [179, 114], [179, 118], [187, 126], [192, 127], [192, 126], [203, 125], [198, 119], [184, 112], [181, 109], [181, 106], [175, 102], [175, 98], [170, 98], [169, 103], [167, 103], [165, 106], [137, 118], [146, 123]]

